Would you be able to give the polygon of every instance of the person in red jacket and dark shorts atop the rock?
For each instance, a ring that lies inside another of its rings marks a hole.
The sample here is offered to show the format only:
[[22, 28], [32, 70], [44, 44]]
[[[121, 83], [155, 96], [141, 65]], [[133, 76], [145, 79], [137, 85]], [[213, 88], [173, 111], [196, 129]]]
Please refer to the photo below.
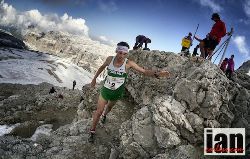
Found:
[[[210, 33], [207, 34], [207, 37], [200, 42], [200, 51], [201, 57], [206, 58], [206, 54], [208, 55], [208, 59], [212, 58], [212, 53], [216, 46], [220, 43], [221, 38], [227, 34], [226, 25], [220, 19], [218, 13], [214, 13], [211, 19], [215, 22]], [[196, 39], [196, 38], [195, 38]]]

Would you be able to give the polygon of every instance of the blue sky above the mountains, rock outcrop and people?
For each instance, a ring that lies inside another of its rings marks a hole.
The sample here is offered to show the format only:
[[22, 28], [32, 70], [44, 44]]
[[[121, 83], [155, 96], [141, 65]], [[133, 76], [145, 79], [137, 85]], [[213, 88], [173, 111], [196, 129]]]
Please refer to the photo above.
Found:
[[[1, 0], [0, 0], [1, 1]], [[204, 38], [210, 32], [213, 12], [218, 12], [227, 30], [234, 27], [226, 56], [235, 55], [236, 68], [250, 59], [250, 0], [5, 0], [16, 12], [37, 10], [41, 16], [67, 16], [78, 32], [109, 44], [127, 41], [131, 48], [135, 37], [151, 38], [151, 50], [181, 49], [181, 39], [196, 29]], [[1, 11], [1, 10], [0, 10]], [[70, 19], [71, 18], [71, 19]], [[53, 18], [50, 18], [53, 19]], [[58, 18], [57, 18], [58, 19]], [[65, 23], [63, 23], [65, 24]], [[52, 24], [51, 24], [52, 25]], [[60, 25], [60, 28], [63, 28]], [[65, 27], [64, 27], [65, 29]], [[227, 37], [223, 38], [221, 43]], [[198, 44], [194, 41], [193, 47]], [[191, 47], [190, 51], [193, 51]], [[216, 55], [215, 55], [216, 57]], [[220, 58], [220, 57], [219, 57]], [[218, 58], [218, 59], [219, 59]]]

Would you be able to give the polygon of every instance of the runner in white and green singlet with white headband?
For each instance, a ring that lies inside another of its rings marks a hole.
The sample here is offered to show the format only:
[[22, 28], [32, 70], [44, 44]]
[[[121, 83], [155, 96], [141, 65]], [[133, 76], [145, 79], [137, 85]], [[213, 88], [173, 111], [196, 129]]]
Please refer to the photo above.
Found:
[[[107, 57], [103, 65], [97, 70], [91, 86], [96, 84], [96, 78], [107, 67], [107, 76], [100, 90], [100, 95], [97, 103], [97, 110], [93, 116], [93, 123], [90, 129], [89, 142], [94, 142], [96, 126], [100, 120], [104, 124], [107, 114], [111, 111], [116, 101], [121, 99], [125, 93], [125, 81], [127, 72], [130, 68], [143, 73], [146, 76], [152, 77], [168, 77], [168, 71], [153, 71], [146, 70], [138, 66], [134, 61], [127, 59], [129, 45], [126, 42], [119, 42], [116, 48], [116, 56]], [[105, 111], [104, 108], [106, 107]]]

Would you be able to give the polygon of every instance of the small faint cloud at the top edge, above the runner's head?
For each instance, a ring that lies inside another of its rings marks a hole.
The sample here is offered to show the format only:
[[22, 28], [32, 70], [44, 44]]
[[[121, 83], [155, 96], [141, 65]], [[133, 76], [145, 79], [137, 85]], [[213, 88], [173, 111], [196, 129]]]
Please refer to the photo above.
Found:
[[104, 12], [114, 12], [118, 9], [114, 0], [99, 0], [98, 1], [99, 8]]

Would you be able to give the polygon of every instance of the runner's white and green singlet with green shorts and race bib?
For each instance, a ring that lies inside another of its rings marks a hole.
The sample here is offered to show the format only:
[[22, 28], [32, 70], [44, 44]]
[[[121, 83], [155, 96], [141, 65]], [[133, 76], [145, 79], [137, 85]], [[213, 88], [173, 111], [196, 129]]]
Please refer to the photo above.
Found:
[[105, 100], [115, 101], [121, 99], [125, 92], [125, 81], [127, 78], [126, 63], [127, 58], [120, 67], [114, 66], [115, 56], [112, 58], [107, 71], [108, 75], [105, 78], [104, 85], [101, 89], [101, 96]]

